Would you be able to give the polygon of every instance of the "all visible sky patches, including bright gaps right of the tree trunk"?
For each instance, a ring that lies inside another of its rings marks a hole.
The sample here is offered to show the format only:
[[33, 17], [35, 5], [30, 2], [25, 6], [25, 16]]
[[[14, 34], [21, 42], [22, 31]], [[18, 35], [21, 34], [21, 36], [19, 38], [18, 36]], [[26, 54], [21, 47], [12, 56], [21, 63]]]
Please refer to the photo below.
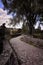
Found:
[[[8, 23], [10, 23], [9, 22], [9, 18], [12, 18], [12, 16], [11, 15], [7, 15], [7, 11], [3, 10], [3, 7], [4, 6], [3, 6], [3, 4], [2, 4], [2, 2], [0, 0], [0, 25], [2, 25], [2, 23], [6, 23], [6, 26], [9, 27], [8, 26]], [[40, 19], [39, 16], [37, 16], [37, 19]], [[6, 21], [8, 21], [8, 22], [6, 22]], [[40, 21], [38, 21], [36, 23], [35, 29], [37, 29], [39, 23], [40, 23]], [[20, 22], [15, 27], [16, 28], [21, 28], [22, 27], [22, 24], [23, 24], [23, 22], [22, 23]], [[13, 26], [11, 25], [10, 27], [13, 27]], [[43, 26], [42, 25], [41, 25], [41, 29], [43, 30]]]

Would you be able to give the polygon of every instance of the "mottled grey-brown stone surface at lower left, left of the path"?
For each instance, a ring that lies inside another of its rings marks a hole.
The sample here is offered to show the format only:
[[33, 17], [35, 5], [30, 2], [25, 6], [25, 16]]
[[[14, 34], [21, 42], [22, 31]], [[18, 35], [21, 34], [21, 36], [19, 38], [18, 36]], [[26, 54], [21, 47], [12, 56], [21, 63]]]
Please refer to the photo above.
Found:
[[8, 59], [10, 58], [12, 49], [7, 41], [3, 43], [3, 52], [0, 55], [0, 65], [6, 65]]

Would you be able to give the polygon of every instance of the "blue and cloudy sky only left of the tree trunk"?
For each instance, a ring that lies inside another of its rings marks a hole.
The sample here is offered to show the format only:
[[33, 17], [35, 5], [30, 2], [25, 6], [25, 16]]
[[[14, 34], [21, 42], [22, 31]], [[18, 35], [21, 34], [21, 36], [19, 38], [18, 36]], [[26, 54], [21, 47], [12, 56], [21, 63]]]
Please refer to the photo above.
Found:
[[[0, 26], [3, 24], [3, 23], [6, 23], [6, 27], [8, 28], [22, 28], [22, 23], [20, 22], [19, 24], [15, 25], [14, 27], [11, 25], [9, 26], [8, 24], [10, 23], [9, 22], [9, 18], [12, 18], [11, 15], [7, 15], [7, 11], [3, 10], [3, 4], [0, 0]], [[8, 22], [7, 22], [8, 21]]]

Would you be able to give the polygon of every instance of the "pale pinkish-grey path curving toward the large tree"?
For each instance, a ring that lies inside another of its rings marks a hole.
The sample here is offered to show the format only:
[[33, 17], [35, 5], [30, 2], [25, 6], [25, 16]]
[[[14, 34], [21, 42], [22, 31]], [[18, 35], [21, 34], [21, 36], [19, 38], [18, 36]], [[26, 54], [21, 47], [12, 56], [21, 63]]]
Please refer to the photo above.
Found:
[[21, 36], [12, 38], [10, 43], [21, 60], [21, 65], [43, 65], [43, 49], [26, 44], [20, 38]]

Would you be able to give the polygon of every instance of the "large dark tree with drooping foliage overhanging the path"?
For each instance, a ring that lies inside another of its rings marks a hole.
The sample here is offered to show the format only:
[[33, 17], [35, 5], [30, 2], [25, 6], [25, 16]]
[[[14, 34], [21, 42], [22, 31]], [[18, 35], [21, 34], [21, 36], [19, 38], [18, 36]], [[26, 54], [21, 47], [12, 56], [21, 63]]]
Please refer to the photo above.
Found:
[[32, 34], [34, 29], [33, 25], [36, 23], [36, 15], [40, 13], [40, 11], [42, 12], [38, 4], [40, 2], [42, 3], [42, 0], [2, 0], [2, 2], [4, 9], [8, 10], [8, 14], [11, 12], [16, 13], [16, 19], [18, 18], [18, 21], [23, 18], [23, 16], [26, 17], [30, 34]]

